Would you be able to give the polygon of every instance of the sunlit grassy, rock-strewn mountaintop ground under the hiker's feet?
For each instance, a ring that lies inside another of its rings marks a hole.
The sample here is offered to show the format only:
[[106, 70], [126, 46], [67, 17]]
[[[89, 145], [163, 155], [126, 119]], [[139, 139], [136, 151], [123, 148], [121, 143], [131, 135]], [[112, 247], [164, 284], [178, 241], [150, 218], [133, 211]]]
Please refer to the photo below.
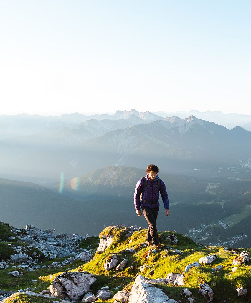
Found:
[[250, 249], [203, 246], [173, 231], [55, 234], [0, 222], [0, 302], [250, 302]]

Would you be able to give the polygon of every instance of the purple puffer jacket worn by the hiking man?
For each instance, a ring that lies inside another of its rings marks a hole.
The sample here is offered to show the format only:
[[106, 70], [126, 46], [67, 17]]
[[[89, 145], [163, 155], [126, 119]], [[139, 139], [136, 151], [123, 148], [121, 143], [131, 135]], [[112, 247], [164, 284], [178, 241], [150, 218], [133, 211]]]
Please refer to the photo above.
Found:
[[[162, 201], [164, 203], [165, 209], [169, 209], [169, 200], [168, 194], [166, 191], [165, 183], [160, 180], [160, 189], [158, 189], [158, 179], [159, 176], [155, 178], [154, 181], [151, 181], [148, 175], [145, 176], [147, 179], [147, 187], [142, 194], [142, 200], [140, 200], [140, 194], [143, 189], [144, 180], [140, 179], [137, 182], [134, 191], [134, 206], [135, 209], [140, 209], [140, 206], [147, 206], [149, 208], [157, 208], [159, 207], [159, 191], [161, 194]], [[147, 202], [154, 202], [153, 204], [148, 204]]]

